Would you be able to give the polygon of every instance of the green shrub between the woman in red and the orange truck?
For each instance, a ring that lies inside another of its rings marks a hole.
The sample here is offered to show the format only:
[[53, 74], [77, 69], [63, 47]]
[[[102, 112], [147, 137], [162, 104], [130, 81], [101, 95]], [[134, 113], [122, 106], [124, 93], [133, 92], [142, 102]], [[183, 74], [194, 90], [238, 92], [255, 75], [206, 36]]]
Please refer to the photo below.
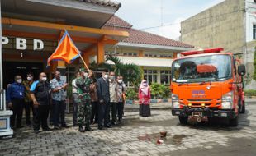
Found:
[[168, 86], [161, 85], [158, 83], [152, 83], [150, 85], [151, 98], [152, 99], [163, 99], [168, 98], [170, 95], [170, 89]]

